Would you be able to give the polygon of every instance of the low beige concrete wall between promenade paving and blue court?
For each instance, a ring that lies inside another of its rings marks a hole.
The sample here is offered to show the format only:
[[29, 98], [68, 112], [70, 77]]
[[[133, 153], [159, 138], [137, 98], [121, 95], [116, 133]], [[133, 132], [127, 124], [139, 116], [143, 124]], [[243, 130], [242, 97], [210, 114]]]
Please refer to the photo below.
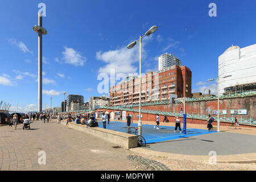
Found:
[[[61, 124], [66, 125], [64, 121], [61, 121]], [[72, 122], [68, 123], [68, 127], [94, 135], [95, 137], [117, 144], [123, 148], [137, 147], [137, 135], [102, 129], [100, 127], [87, 127], [86, 125], [79, 125]]]

